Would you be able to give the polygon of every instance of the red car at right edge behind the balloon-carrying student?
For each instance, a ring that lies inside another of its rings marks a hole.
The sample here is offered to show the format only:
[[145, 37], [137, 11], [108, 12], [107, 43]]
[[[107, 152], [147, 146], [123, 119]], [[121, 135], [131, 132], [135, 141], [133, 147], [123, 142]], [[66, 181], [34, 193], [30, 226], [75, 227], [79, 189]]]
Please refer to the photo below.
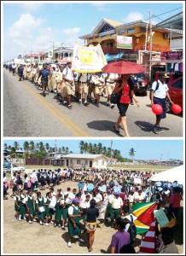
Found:
[[[179, 105], [183, 110], [183, 77], [177, 78], [168, 84], [169, 95], [174, 104]], [[166, 98], [166, 112], [171, 113], [171, 102]]]

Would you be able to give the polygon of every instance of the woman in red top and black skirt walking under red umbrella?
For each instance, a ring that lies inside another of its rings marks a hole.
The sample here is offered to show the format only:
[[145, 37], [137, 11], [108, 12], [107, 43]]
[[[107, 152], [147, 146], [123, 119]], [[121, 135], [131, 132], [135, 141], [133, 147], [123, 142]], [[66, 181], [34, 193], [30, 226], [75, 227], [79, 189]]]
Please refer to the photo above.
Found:
[[140, 106], [139, 102], [137, 101], [137, 97], [135, 96], [133, 85], [129, 83], [129, 77], [130, 74], [122, 74], [121, 78], [116, 82], [115, 88], [113, 90], [114, 94], [117, 94], [119, 92], [121, 94], [119, 102], [117, 102], [117, 106], [119, 108], [119, 118], [113, 125], [113, 128], [116, 133], [119, 133], [119, 124], [122, 123], [126, 137], [130, 137], [126, 125], [126, 111], [131, 102], [130, 94], [134, 101], [137, 103], [137, 107]]

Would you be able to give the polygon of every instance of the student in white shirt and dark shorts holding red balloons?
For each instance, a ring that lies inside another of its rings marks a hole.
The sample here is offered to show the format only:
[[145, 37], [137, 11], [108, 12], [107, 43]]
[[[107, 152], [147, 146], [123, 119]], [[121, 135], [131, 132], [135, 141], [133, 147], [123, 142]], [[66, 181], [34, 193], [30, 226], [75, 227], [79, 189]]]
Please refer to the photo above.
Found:
[[158, 81], [154, 81], [152, 84], [150, 95], [151, 106], [153, 107], [154, 104], [159, 104], [163, 108], [163, 112], [161, 114], [156, 114], [156, 122], [153, 129], [155, 134], [164, 132], [160, 127], [160, 121], [161, 119], [166, 119], [166, 97], [168, 98], [169, 102], [171, 102], [171, 105], [174, 104], [174, 102], [171, 101], [171, 97], [168, 92], [169, 89], [166, 84], [166, 79], [166, 73], [160, 72]]

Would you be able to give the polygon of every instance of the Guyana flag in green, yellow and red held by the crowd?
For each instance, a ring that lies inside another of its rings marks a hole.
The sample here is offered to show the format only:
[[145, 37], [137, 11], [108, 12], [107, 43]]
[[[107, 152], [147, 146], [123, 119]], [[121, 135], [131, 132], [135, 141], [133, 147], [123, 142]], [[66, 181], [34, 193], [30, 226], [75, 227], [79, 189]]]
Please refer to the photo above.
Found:
[[154, 222], [154, 210], [156, 202], [139, 202], [133, 205], [132, 212], [137, 216], [134, 224], [137, 227], [137, 234], [147, 232], [150, 225]]

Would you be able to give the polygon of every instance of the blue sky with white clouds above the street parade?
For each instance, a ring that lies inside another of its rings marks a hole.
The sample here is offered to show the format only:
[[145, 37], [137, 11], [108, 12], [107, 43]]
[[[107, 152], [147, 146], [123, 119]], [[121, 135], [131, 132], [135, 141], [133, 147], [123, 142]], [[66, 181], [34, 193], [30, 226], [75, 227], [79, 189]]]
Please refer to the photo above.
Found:
[[[17, 55], [41, 52], [55, 46], [73, 45], [78, 37], [92, 32], [103, 19], [128, 23], [148, 20], [158, 23], [183, 11], [183, 1], [149, 3], [124, 1], [42, 2], [2, 1], [3, 61]], [[83, 42], [82, 42], [83, 43]]]

